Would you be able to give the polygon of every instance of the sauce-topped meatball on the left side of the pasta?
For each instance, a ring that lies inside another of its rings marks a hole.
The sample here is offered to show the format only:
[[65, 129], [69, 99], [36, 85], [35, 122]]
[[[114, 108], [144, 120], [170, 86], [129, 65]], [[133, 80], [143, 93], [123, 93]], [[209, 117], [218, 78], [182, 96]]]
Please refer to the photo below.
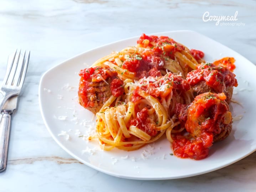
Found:
[[123, 94], [123, 81], [109, 67], [91, 67], [80, 71], [78, 100], [80, 105], [96, 114], [111, 95]]

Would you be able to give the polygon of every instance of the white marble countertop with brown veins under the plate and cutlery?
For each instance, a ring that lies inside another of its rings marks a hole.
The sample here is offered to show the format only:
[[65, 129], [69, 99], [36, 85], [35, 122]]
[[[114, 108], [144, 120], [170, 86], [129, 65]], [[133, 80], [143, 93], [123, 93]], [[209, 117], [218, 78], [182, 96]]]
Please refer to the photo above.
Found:
[[[193, 30], [256, 63], [256, 1], [2, 0], [0, 82], [7, 56], [31, 50], [27, 77], [12, 115], [7, 169], [0, 191], [255, 191], [256, 152], [204, 175], [162, 181], [116, 178], [68, 155], [41, 118], [42, 74], [81, 52], [142, 33]], [[203, 14], [234, 15], [240, 26], [203, 21]], [[107, 189], [107, 190], [106, 190]]]

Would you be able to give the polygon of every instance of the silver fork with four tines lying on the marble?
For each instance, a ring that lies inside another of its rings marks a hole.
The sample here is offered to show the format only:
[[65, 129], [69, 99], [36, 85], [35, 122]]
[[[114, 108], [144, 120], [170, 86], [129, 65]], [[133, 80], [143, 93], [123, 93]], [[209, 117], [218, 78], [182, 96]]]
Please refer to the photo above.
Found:
[[20, 52], [17, 53], [17, 50], [14, 54], [12, 62], [7, 64], [6, 74], [2, 82], [2, 87], [0, 92], [2, 93], [2, 98], [0, 99], [0, 111], [2, 110], [6, 101], [15, 95], [18, 95], [21, 91], [22, 85], [25, 80], [27, 65], [29, 63], [29, 54], [26, 57], [26, 62], [24, 63], [26, 51], [23, 55], [22, 62], [20, 60]]

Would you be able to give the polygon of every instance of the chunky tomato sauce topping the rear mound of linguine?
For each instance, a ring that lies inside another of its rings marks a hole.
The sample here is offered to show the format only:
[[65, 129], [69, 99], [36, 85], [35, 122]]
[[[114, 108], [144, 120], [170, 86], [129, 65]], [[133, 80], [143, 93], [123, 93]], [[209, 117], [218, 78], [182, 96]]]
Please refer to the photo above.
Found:
[[165, 61], [169, 58], [175, 59], [174, 53], [185, 49], [184, 46], [166, 36], [143, 34], [137, 42], [141, 47], [151, 49], [143, 51], [141, 55], [134, 53], [123, 61], [121, 67], [134, 72], [138, 78], [162, 76], [160, 69], [163, 68]]

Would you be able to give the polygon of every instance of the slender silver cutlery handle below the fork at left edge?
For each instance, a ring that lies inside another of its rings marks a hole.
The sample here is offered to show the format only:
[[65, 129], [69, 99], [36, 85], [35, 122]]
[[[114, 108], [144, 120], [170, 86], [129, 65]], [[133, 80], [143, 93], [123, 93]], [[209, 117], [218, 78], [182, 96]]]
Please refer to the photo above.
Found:
[[6, 168], [10, 123], [11, 115], [8, 113], [2, 114], [0, 122], [0, 172]]

